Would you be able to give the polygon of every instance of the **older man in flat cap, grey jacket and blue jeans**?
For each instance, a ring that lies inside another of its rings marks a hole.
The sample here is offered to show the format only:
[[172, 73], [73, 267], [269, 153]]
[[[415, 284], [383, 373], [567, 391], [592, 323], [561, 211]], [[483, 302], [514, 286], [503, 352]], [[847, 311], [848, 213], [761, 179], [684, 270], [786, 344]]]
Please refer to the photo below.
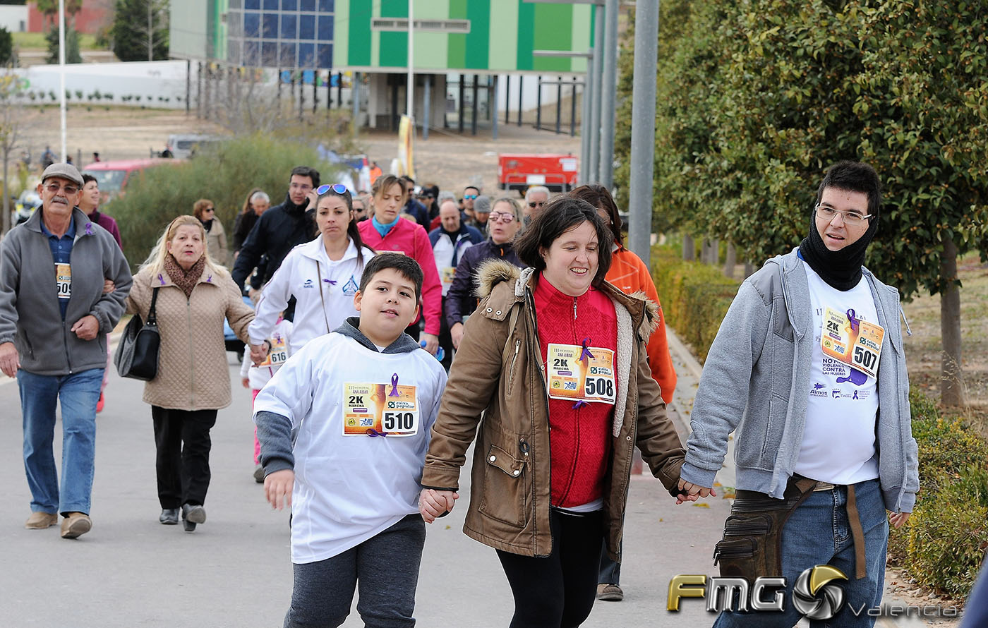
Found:
[[[83, 180], [70, 164], [45, 168], [41, 208], [0, 244], [0, 370], [17, 377], [24, 467], [31, 488], [28, 529], [61, 523], [62, 538], [92, 527], [96, 405], [107, 347], [132, 279], [106, 229], [76, 205]], [[105, 291], [107, 281], [113, 289]], [[61, 401], [61, 485], [52, 439]]]

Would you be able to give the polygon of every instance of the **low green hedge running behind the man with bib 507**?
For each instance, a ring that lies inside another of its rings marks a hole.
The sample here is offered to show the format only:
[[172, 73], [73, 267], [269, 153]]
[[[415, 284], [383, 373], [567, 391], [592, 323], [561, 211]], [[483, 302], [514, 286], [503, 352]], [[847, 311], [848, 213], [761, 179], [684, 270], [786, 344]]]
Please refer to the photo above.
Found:
[[[672, 247], [652, 250], [652, 277], [667, 324], [705, 359], [737, 281], [718, 267], [683, 262]], [[962, 598], [988, 548], [988, 447], [963, 420], [942, 416], [923, 393], [912, 390], [909, 398], [920, 493], [906, 525], [890, 531], [889, 558], [919, 584]]]

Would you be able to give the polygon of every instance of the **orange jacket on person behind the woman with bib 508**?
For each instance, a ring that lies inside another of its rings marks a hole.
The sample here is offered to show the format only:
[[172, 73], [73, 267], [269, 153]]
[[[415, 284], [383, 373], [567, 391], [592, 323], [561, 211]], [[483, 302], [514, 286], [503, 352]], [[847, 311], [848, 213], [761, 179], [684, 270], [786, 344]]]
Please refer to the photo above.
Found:
[[669, 356], [669, 342], [666, 340], [666, 317], [662, 313], [662, 303], [659, 293], [655, 290], [655, 282], [648, 273], [648, 267], [635, 254], [618, 245], [617, 251], [611, 256], [611, 269], [605, 277], [625, 294], [642, 291], [648, 298], [659, 306], [659, 326], [648, 339], [648, 365], [652, 368], [652, 379], [662, 389], [662, 400], [667, 404], [673, 400], [676, 390], [676, 369]]

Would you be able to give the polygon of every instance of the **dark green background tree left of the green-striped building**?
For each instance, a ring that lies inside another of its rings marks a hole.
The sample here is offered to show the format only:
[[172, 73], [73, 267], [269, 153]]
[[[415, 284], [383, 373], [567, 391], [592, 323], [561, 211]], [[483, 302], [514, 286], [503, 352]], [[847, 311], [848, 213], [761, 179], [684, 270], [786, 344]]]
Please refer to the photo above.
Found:
[[113, 49], [122, 61], [168, 58], [168, 0], [117, 0], [110, 29]]

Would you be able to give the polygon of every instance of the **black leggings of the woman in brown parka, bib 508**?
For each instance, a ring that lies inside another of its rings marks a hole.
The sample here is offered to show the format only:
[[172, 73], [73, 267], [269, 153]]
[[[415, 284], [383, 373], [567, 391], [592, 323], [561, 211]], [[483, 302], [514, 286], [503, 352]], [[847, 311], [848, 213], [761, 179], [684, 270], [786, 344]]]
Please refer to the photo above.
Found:
[[552, 553], [546, 558], [498, 550], [515, 596], [511, 628], [572, 628], [590, 615], [604, 538], [603, 511], [549, 511]]

